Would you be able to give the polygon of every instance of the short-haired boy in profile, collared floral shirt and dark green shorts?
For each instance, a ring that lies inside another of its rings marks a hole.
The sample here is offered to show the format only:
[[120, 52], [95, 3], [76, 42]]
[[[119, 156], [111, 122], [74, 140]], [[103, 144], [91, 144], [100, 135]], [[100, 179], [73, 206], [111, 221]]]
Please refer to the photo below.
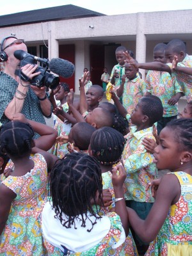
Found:
[[[145, 189], [148, 182], [157, 178], [157, 168], [153, 163], [153, 155], [145, 150], [142, 140], [143, 138], [155, 140], [153, 124], [160, 120], [162, 115], [163, 106], [158, 97], [154, 95], [142, 97], [131, 115], [133, 125], [129, 127], [130, 132], [125, 136], [127, 143], [122, 153], [122, 161], [127, 172], [125, 200], [127, 206], [134, 209], [143, 220], [154, 202], [151, 192]], [[139, 237], [134, 238], [138, 252], [142, 254], [148, 244], [143, 243]]]

